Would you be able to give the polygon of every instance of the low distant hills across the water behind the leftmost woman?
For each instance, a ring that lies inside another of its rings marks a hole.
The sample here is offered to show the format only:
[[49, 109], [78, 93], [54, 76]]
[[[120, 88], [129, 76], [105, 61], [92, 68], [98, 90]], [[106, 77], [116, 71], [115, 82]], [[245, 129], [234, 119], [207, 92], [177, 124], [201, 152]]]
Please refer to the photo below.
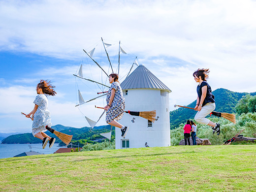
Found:
[[[88, 142], [94, 143], [93, 140], [97, 138], [102, 138], [99, 133], [107, 132], [111, 129], [110, 125], [106, 126], [98, 126], [90, 131], [91, 128], [72, 128], [65, 127], [62, 125], [56, 125], [52, 127], [53, 129], [63, 132], [68, 135], [73, 135], [72, 140], [80, 140], [86, 139]], [[60, 145], [65, 145], [56, 135], [52, 134], [50, 131], [45, 132], [50, 137], [56, 138], [56, 143], [60, 143]], [[113, 133], [112, 133], [113, 134]], [[2, 140], [2, 144], [26, 144], [26, 143], [41, 143], [41, 140], [33, 137], [32, 133], [22, 133], [22, 134], [14, 134], [6, 137]]]

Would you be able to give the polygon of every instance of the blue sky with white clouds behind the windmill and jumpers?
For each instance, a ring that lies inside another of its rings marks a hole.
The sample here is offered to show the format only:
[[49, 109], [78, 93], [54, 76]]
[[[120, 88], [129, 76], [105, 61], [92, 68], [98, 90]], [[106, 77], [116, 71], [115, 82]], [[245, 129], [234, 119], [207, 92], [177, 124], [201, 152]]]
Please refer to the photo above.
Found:
[[137, 57], [172, 91], [170, 110], [196, 99], [197, 68], [210, 68], [212, 90], [256, 92], [255, 10], [255, 0], [0, 0], [0, 133], [31, 132], [21, 112], [32, 111], [40, 79], [56, 86], [53, 125], [96, 121], [93, 102], [75, 105], [78, 89], [88, 100], [99, 88], [73, 74], [83, 64], [85, 78], [108, 83], [83, 51], [96, 48], [93, 58], [110, 73], [101, 37], [115, 70], [119, 41], [127, 52], [121, 82]]

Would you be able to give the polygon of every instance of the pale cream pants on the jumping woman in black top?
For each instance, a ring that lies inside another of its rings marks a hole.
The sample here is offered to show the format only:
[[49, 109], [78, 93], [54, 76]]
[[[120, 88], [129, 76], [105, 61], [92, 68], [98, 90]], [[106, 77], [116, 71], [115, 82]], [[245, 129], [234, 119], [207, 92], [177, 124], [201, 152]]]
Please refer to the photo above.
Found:
[[201, 109], [201, 111], [198, 111], [195, 116], [194, 120], [200, 124], [208, 125], [210, 120], [206, 119], [205, 117], [209, 115], [213, 110], [215, 109], [215, 103], [207, 103], [204, 105]]

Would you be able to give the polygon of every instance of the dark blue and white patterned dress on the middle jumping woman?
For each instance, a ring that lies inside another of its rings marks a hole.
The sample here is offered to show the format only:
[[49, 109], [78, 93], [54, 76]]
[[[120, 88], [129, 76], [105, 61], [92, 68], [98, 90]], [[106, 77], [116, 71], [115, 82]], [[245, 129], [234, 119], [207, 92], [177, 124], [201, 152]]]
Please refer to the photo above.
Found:
[[118, 82], [113, 82], [108, 90], [107, 93], [107, 104], [109, 103], [109, 99], [111, 96], [111, 90], [115, 89], [115, 96], [111, 103], [110, 108], [106, 112], [106, 123], [110, 123], [113, 120], [120, 120], [123, 117], [123, 114], [125, 112], [125, 98], [123, 96], [123, 91], [120, 87], [120, 84]]

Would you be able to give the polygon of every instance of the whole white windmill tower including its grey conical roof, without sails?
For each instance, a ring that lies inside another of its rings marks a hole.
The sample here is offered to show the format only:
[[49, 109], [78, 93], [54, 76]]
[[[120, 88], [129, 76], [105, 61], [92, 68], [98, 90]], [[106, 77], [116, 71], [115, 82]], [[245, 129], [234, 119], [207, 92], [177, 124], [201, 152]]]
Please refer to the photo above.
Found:
[[124, 114], [119, 121], [128, 126], [126, 137], [116, 128], [116, 149], [170, 146], [169, 93], [166, 87], [144, 65], [139, 65], [122, 83], [126, 111], [156, 110], [152, 123], [138, 116]]

